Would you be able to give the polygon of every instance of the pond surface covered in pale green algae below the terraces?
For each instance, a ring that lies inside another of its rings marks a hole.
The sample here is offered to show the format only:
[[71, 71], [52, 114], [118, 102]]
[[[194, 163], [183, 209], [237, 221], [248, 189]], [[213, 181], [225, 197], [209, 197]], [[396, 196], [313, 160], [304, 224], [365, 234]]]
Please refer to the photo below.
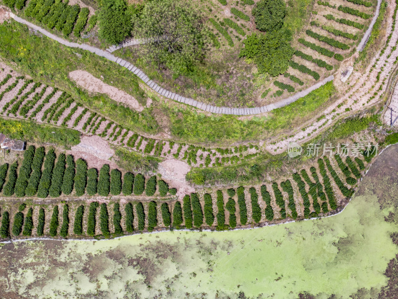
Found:
[[[398, 232], [398, 225], [384, 218], [394, 202], [384, 202], [380, 209], [377, 200], [368, 192], [354, 197], [334, 217], [249, 231], [170, 232], [94, 243], [64, 242], [58, 243], [62, 247], [56, 252], [53, 241], [27, 242], [15, 248], [5, 245], [0, 259], [23, 252], [15, 270], [7, 274], [10, 288], [21, 294], [29, 287], [29, 295], [38, 298], [58, 290], [65, 292], [60, 292], [64, 296], [60, 298], [78, 294], [87, 298], [96, 294], [97, 283], [110, 297], [214, 298], [218, 294], [218, 298], [236, 298], [234, 294], [244, 292], [247, 297], [275, 294], [273, 298], [295, 299], [306, 291], [319, 298], [331, 294], [348, 298], [359, 289], [367, 293], [386, 285], [383, 273], [398, 253], [390, 238], [392, 232]], [[57, 260], [68, 257], [63, 259], [63, 271], [57, 271], [53, 256]], [[87, 271], [92, 267], [94, 272]], [[39, 288], [35, 282], [40, 282]], [[188, 295], [186, 286], [192, 286]], [[202, 293], [205, 295], [199, 295]]]

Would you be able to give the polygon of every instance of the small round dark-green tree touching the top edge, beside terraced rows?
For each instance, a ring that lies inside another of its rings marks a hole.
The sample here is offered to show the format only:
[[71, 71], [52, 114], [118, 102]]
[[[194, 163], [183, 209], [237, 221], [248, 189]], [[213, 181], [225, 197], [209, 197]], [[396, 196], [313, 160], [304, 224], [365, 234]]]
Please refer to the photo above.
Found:
[[283, 25], [286, 4], [283, 0], [261, 0], [253, 8], [256, 28], [260, 31], [278, 30]]

